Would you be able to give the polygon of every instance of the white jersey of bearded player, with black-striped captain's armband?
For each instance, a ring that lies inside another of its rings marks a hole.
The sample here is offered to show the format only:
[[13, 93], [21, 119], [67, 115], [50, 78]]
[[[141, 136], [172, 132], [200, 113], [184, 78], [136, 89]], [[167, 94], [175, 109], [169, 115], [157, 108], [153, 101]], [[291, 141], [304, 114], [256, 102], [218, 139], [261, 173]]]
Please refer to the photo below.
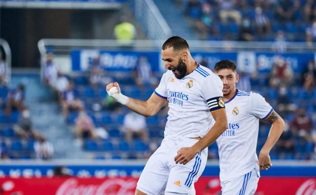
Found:
[[224, 107], [222, 89], [220, 78], [200, 64], [180, 80], [165, 72], [154, 91], [169, 101], [165, 137], [203, 137], [215, 123], [210, 111]]

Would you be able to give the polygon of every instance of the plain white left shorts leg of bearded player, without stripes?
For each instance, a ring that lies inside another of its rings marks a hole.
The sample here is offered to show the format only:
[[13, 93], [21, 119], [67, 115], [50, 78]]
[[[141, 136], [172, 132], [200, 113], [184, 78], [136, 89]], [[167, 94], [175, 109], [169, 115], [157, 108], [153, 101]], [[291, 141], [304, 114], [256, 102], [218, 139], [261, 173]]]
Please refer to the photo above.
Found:
[[[166, 188], [169, 168], [166, 163], [168, 147], [162, 145], [148, 159], [137, 182], [137, 189], [147, 195], [160, 195]], [[140, 193], [141, 194], [141, 193]]]

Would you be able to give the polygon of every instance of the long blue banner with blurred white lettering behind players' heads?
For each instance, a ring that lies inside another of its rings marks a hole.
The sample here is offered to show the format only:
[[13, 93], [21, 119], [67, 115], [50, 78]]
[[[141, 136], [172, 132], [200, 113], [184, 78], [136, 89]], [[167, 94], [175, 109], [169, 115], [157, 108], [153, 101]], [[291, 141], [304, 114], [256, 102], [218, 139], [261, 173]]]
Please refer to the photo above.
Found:
[[[211, 70], [216, 62], [227, 59], [236, 63], [239, 71], [269, 73], [273, 64], [283, 60], [293, 72], [303, 73], [314, 53], [274, 54], [264, 52], [191, 52], [193, 59]], [[145, 56], [152, 71], [165, 71], [160, 52], [75, 50], [71, 52], [72, 70], [87, 70], [99, 58], [105, 70], [130, 71], [137, 66], [140, 56]]]

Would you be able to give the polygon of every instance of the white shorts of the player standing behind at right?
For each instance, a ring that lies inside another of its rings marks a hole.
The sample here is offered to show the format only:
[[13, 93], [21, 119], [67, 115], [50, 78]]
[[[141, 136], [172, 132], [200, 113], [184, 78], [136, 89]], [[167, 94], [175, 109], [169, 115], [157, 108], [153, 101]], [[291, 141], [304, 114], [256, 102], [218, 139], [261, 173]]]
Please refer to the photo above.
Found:
[[252, 195], [256, 192], [259, 175], [256, 169], [249, 173], [221, 182], [222, 195]]

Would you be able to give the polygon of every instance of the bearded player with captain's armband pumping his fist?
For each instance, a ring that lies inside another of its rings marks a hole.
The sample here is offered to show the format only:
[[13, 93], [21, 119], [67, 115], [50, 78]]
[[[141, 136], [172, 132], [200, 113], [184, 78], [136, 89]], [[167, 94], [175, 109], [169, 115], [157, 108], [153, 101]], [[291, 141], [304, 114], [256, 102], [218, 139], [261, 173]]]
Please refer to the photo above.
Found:
[[191, 195], [206, 166], [207, 147], [227, 129], [223, 84], [193, 60], [187, 42], [179, 36], [163, 44], [162, 58], [168, 70], [147, 101], [124, 96], [117, 83], [107, 85], [106, 91], [144, 116], [169, 105], [165, 138], [147, 161], [135, 194]]

